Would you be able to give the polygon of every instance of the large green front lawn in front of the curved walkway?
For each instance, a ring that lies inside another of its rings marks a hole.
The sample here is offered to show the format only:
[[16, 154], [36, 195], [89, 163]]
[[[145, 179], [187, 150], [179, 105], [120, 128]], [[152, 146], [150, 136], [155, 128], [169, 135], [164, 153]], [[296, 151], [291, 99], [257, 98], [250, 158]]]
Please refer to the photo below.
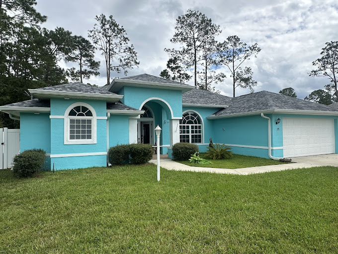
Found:
[[338, 253], [338, 168], [0, 170], [0, 253]]

